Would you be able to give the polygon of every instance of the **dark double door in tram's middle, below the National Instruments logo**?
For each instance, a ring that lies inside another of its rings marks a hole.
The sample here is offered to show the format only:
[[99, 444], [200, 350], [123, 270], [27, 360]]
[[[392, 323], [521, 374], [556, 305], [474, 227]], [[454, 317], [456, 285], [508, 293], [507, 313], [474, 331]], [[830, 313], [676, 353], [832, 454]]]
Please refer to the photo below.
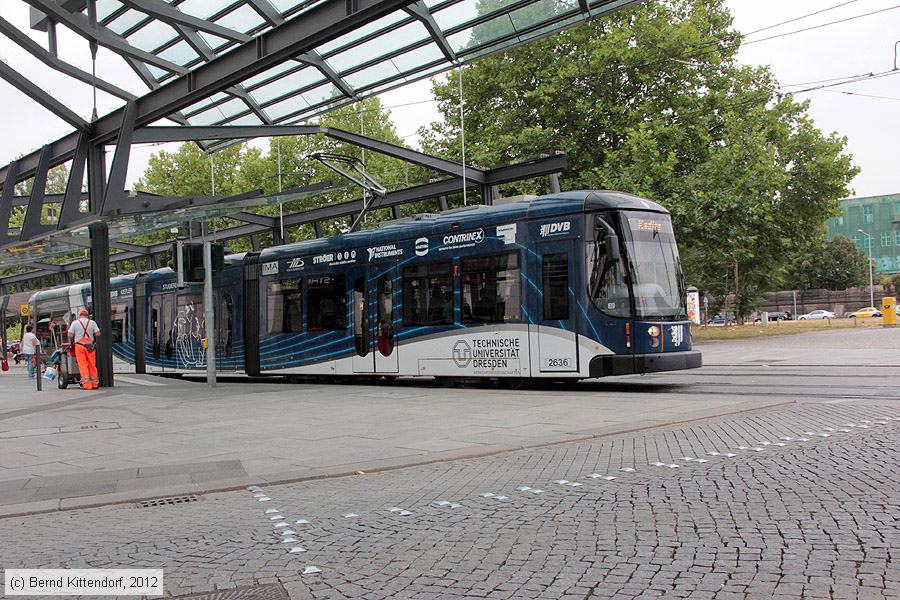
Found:
[[397, 266], [372, 267], [367, 275], [353, 285], [353, 372], [397, 373]]

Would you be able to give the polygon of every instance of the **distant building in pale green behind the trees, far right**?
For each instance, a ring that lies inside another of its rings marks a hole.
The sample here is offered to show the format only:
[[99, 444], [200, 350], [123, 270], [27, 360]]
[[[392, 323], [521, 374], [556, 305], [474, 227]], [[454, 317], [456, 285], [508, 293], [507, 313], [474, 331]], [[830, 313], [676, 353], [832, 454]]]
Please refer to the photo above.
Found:
[[875, 273], [900, 273], [900, 194], [847, 198], [841, 208], [841, 216], [828, 219], [828, 240], [843, 235], [867, 254], [871, 243]]

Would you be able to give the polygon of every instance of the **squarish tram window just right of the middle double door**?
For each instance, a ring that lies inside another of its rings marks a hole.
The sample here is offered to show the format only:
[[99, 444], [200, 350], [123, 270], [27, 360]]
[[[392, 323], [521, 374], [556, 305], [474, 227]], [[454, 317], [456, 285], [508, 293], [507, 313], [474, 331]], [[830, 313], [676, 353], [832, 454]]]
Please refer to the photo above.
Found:
[[453, 324], [453, 263], [404, 267], [403, 324]]

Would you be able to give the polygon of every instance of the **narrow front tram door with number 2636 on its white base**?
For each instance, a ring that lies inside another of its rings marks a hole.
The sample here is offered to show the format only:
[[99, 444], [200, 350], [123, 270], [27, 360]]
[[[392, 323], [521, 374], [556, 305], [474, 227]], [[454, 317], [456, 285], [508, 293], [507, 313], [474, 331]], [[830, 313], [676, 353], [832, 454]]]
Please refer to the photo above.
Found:
[[538, 244], [537, 345], [541, 373], [578, 371], [575, 241]]

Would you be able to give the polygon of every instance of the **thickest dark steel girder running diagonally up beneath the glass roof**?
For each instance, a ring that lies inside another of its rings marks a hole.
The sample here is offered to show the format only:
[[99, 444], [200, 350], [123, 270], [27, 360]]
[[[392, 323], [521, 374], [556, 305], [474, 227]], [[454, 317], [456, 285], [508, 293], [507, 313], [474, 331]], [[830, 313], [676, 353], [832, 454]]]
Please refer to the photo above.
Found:
[[[43, 10], [44, 5], [49, 3], [49, 0], [27, 1], [38, 10]], [[259, 34], [253, 41], [241, 44], [227, 54], [198, 66], [188, 76], [159, 86], [138, 98], [135, 127], [144, 127], [159, 119], [171, 117], [183, 108], [412, 2], [413, 0], [354, 0], [352, 4], [356, 10], [348, 14], [348, 5], [344, 0], [326, 0], [310, 8], [302, 18], [285, 21], [278, 27]], [[52, 7], [48, 10], [52, 10]], [[63, 21], [62, 18], [57, 20]], [[105, 144], [115, 139], [123, 114], [124, 109], [119, 108], [95, 121], [92, 141]], [[77, 137], [76, 134], [70, 134], [50, 144], [53, 156], [51, 166], [72, 158]], [[37, 154], [32, 152], [20, 159], [20, 180], [33, 175], [37, 166]], [[0, 180], [5, 177], [6, 168], [0, 169]]]

